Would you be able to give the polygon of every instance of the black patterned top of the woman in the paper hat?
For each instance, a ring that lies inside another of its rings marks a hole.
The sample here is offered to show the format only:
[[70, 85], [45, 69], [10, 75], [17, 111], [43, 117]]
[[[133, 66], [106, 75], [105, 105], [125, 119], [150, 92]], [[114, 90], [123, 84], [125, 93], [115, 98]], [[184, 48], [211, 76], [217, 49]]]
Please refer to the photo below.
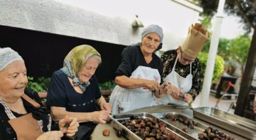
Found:
[[[169, 50], [166, 51], [162, 56], [161, 59], [164, 63], [164, 69], [163, 69], [163, 79], [167, 77], [173, 68], [174, 62], [176, 57], [178, 56], [177, 54], [177, 49], [176, 50]], [[175, 66], [175, 71], [182, 77], [186, 77], [190, 73], [190, 65], [182, 65], [179, 61], [177, 61], [177, 64]], [[192, 79], [192, 87], [188, 91], [189, 94], [192, 95], [193, 100], [195, 100], [196, 96], [199, 94], [201, 91], [201, 67], [200, 67], [200, 62], [196, 58], [195, 61], [192, 63], [192, 70], [191, 74], [193, 75]]]

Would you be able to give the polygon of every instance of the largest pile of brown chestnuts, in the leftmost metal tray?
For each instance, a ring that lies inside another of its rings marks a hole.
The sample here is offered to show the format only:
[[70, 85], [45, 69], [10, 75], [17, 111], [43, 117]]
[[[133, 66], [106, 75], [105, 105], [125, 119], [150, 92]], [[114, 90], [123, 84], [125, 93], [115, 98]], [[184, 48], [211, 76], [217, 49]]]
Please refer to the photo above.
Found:
[[142, 140], [182, 140], [169, 131], [165, 123], [157, 118], [131, 116], [129, 120], [120, 122]]

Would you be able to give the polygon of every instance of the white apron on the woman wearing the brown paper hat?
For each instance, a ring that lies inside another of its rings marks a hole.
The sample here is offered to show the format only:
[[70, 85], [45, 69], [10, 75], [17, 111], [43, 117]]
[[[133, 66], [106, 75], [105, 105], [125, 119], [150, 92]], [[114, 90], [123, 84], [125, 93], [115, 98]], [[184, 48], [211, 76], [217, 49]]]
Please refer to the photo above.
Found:
[[[192, 74], [191, 74], [191, 64], [190, 64], [190, 73], [186, 76], [186, 78], [180, 76], [174, 69], [177, 64], [178, 56], [176, 57], [174, 66], [171, 70], [171, 73], [165, 77], [164, 81], [169, 82], [173, 85], [175, 85], [177, 88], [181, 89], [183, 93], [187, 93], [191, 87], [192, 87]], [[164, 95], [162, 98], [156, 98], [156, 104], [176, 104], [176, 105], [182, 105], [182, 106], [188, 106], [188, 103], [186, 103], [183, 99], [176, 100], [172, 98], [171, 95]]]

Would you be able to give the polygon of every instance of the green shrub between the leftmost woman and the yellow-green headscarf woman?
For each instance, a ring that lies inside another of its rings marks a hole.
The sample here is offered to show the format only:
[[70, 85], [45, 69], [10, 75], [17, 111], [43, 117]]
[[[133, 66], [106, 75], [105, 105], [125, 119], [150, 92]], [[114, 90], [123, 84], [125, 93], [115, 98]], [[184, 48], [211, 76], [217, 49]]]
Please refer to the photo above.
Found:
[[50, 84], [50, 79], [51, 78], [40, 77], [35, 80], [33, 77], [28, 76], [27, 87], [37, 92], [47, 92], [48, 86]]

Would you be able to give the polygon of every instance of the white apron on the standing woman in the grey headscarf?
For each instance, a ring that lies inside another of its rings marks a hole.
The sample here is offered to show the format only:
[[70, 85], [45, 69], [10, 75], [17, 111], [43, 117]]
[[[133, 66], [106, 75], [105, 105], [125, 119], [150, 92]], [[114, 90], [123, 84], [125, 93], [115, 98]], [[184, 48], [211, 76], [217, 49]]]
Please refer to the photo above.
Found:
[[[157, 69], [139, 66], [131, 73], [130, 78], [154, 80], [160, 83], [161, 77]], [[154, 95], [149, 89], [134, 88], [126, 89], [119, 85], [114, 87], [111, 93], [110, 104], [112, 105], [112, 114], [128, 112], [143, 107], [153, 106], [155, 104]]]

